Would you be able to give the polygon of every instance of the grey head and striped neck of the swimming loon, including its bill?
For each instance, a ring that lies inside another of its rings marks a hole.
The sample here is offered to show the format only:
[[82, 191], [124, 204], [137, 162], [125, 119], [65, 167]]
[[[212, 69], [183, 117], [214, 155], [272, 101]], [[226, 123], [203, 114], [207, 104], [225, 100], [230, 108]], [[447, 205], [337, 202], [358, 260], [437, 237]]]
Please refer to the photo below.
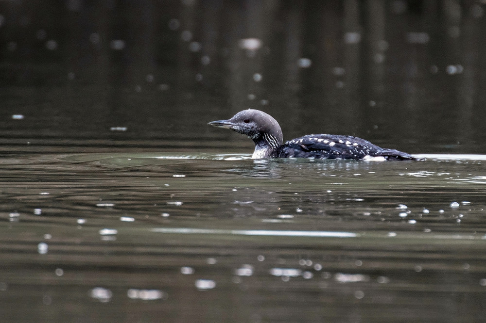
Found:
[[209, 122], [208, 125], [231, 129], [247, 135], [257, 149], [275, 150], [283, 143], [282, 129], [270, 114], [248, 109], [236, 113], [231, 119]]

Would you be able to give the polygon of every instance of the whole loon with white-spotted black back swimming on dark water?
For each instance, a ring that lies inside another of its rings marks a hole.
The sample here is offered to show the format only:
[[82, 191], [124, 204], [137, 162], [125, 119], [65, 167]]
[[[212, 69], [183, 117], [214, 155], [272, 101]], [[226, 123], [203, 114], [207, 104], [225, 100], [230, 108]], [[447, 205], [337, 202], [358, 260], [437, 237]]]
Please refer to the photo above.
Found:
[[311, 134], [283, 143], [280, 125], [270, 114], [248, 109], [231, 119], [209, 122], [208, 125], [231, 129], [250, 137], [255, 143], [252, 159], [311, 158], [370, 161], [417, 161], [407, 153], [381, 148], [367, 140], [344, 135]]

